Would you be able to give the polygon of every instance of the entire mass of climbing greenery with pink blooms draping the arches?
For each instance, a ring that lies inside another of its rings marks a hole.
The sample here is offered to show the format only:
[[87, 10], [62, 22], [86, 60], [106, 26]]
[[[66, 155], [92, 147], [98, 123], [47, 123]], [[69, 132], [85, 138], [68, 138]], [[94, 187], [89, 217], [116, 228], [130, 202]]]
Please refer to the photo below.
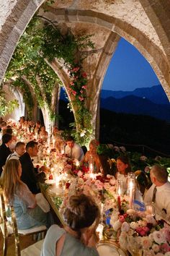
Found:
[[[71, 97], [68, 98], [73, 100], [69, 106], [71, 110], [72, 107], [76, 109], [75, 124], [71, 124], [71, 127], [75, 127], [72, 135], [81, 145], [89, 142], [92, 132], [91, 113], [86, 108], [87, 78], [82, 69], [82, 62], [86, 58], [83, 50], [87, 47], [94, 48], [90, 38], [91, 35], [75, 36], [69, 29], [63, 35], [53, 22], [42, 24], [42, 17], [35, 15], [19, 40], [5, 77], [5, 80], [17, 77], [13, 86], [25, 93], [24, 101], [29, 109], [33, 104], [27, 85], [30, 82], [40, 108], [46, 104], [50, 116], [54, 116], [50, 109], [52, 92], [56, 82], [59, 85], [61, 82], [46, 60], [51, 62], [54, 58], [62, 59], [71, 80], [68, 88]], [[27, 82], [24, 82], [23, 77]], [[24, 86], [27, 89], [24, 90]], [[29, 100], [26, 100], [26, 95], [29, 95]]]

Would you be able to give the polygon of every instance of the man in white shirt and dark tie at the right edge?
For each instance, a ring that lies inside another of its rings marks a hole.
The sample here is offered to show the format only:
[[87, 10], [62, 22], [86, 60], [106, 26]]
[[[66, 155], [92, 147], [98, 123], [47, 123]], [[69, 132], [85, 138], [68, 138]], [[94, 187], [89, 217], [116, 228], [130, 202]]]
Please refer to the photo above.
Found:
[[151, 168], [151, 182], [153, 183], [144, 197], [145, 202], [154, 202], [156, 218], [170, 221], [170, 182], [168, 172], [164, 166], [155, 165]]

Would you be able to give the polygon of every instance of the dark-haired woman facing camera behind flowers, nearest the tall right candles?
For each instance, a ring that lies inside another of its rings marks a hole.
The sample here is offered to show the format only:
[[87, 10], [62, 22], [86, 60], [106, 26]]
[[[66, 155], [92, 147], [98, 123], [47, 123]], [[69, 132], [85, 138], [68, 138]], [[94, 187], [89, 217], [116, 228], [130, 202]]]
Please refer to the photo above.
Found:
[[130, 161], [127, 155], [120, 155], [116, 160], [117, 173], [115, 174], [116, 179], [125, 180], [125, 176], [131, 171]]

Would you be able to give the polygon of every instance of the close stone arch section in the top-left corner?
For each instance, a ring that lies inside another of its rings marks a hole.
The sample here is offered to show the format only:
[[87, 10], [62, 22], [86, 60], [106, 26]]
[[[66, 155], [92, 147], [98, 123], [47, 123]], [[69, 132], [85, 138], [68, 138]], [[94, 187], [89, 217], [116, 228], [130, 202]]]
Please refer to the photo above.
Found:
[[3, 0], [0, 22], [0, 83], [14, 53], [17, 42], [32, 16], [44, 0]]

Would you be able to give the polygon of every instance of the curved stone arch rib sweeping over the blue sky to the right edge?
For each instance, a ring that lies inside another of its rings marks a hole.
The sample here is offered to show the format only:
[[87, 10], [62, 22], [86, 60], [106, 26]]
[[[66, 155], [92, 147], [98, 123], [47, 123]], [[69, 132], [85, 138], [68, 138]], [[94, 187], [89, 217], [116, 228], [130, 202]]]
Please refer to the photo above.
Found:
[[170, 64], [161, 48], [156, 46], [147, 36], [137, 28], [125, 21], [111, 17], [104, 13], [83, 9], [53, 9], [45, 13], [47, 17], [53, 17], [58, 22], [85, 22], [106, 27], [108, 30], [117, 33], [125, 40], [128, 40], [140, 51], [146, 60], [151, 64], [158, 79], [163, 86], [167, 97], [170, 99]]

